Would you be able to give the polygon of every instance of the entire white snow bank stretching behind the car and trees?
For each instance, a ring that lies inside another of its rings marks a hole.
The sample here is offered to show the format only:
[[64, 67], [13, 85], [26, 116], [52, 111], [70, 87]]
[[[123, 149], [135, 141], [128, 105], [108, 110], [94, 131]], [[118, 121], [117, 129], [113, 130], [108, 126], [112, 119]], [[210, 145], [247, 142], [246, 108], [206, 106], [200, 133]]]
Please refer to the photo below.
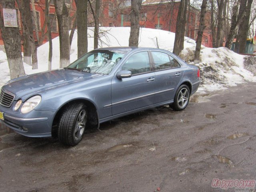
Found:
[[[88, 51], [93, 50], [93, 28], [88, 28]], [[99, 47], [128, 46], [130, 28], [128, 27], [101, 27], [99, 31]], [[150, 28], [140, 28], [139, 46], [162, 48], [172, 52], [175, 34], [164, 30]], [[59, 38], [52, 40], [53, 56], [52, 69], [59, 68], [60, 49]], [[194, 50], [196, 42], [185, 37], [184, 50], [180, 57], [190, 64], [194, 64]], [[26, 74], [33, 74], [48, 70], [48, 50], [46, 43], [38, 48], [38, 70], [32, 70], [32, 66], [24, 63]], [[196, 64], [201, 70], [202, 86], [201, 90], [216, 90], [226, 86], [235, 86], [245, 81], [256, 81], [256, 64], [252, 64], [252, 59], [245, 59], [245, 56], [236, 54], [226, 48], [206, 48], [202, 46], [201, 60]], [[77, 59], [77, 33], [74, 33], [70, 48], [70, 62]], [[10, 79], [6, 54], [0, 51], [0, 86]]]

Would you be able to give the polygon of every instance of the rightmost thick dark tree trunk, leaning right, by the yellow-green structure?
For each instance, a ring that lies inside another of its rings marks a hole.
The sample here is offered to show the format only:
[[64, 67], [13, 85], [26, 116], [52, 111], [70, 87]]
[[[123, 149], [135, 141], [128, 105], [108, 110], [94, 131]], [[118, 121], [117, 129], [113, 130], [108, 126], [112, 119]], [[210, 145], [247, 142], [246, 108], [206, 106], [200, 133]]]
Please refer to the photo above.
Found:
[[239, 26], [239, 33], [238, 33], [238, 53], [245, 53], [246, 50], [246, 39], [248, 36], [248, 30], [249, 30], [249, 20], [250, 20], [250, 12], [252, 7], [252, 1], [247, 1], [246, 11], [245, 15], [243, 17], [243, 20]]

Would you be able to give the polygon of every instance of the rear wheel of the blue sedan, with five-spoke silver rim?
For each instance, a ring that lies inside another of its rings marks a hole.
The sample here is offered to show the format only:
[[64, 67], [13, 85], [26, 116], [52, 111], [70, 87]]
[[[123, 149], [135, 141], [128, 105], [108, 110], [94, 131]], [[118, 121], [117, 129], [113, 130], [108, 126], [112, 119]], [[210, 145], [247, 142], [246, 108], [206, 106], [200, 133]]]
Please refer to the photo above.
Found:
[[184, 110], [188, 106], [189, 98], [190, 90], [187, 85], [183, 84], [178, 88], [174, 96], [174, 102], [170, 104], [170, 108], [174, 111]]

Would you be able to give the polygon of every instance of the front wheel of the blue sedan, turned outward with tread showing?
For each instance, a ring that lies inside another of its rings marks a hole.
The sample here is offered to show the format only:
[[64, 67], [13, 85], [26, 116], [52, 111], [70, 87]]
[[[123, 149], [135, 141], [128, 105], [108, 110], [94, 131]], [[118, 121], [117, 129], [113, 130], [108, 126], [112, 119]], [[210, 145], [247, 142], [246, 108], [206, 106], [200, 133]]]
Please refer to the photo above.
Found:
[[83, 103], [68, 105], [60, 116], [58, 138], [66, 145], [75, 146], [81, 140], [86, 128], [87, 110]]

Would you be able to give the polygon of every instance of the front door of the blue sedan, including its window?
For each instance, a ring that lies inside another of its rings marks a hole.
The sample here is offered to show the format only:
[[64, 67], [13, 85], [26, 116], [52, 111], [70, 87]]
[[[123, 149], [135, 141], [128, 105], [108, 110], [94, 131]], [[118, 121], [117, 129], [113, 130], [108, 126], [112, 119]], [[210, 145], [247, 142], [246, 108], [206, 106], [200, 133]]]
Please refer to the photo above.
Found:
[[122, 70], [130, 70], [132, 77], [112, 79], [112, 115], [122, 114], [154, 103], [155, 74], [149, 52], [140, 51], [124, 61]]

